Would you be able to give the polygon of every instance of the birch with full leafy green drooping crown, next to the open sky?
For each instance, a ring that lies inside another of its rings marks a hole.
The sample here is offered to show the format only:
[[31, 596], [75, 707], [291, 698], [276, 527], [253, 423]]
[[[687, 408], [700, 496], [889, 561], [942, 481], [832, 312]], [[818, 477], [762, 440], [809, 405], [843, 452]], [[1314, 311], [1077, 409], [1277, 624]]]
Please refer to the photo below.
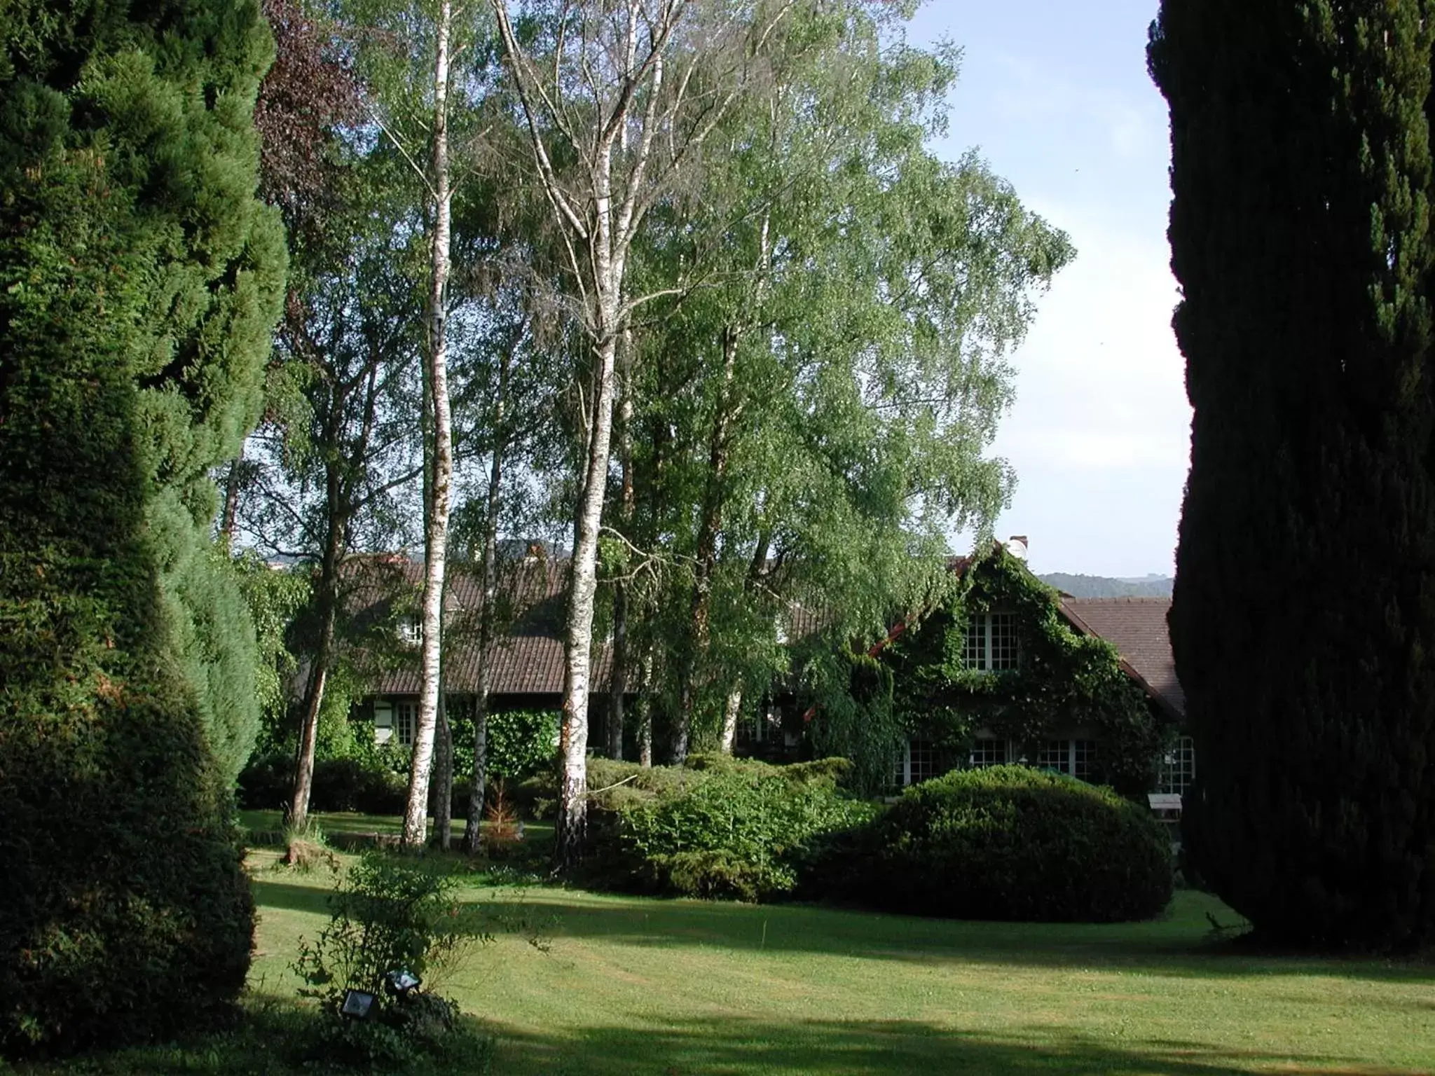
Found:
[[860, 4], [796, 20], [772, 92], [733, 112], [631, 268], [705, 277], [647, 320], [636, 390], [662, 436], [637, 452], [647, 529], [676, 565], [650, 605], [674, 641], [674, 762], [699, 732], [732, 749], [802, 608], [838, 648], [884, 631], [928, 593], [947, 532], [990, 527], [1012, 488], [986, 456], [1004, 354], [1071, 257], [980, 161], [926, 151], [950, 56], [884, 46]]

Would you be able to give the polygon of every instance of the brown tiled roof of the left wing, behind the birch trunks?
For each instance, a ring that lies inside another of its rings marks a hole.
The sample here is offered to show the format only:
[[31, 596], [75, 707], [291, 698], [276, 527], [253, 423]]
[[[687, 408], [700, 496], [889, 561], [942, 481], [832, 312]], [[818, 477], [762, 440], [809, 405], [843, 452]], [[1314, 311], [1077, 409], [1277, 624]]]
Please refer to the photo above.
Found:
[[[423, 585], [423, 565], [406, 562], [406, 582]], [[488, 647], [488, 690], [491, 694], [561, 694], [564, 677], [563, 630], [568, 562], [530, 558], [507, 565], [499, 584], [507, 631]], [[474, 565], [449, 562], [445, 610], [448, 636], [443, 681], [449, 692], [468, 693], [478, 686], [478, 617], [484, 587]], [[594, 641], [591, 690], [607, 687], [611, 656], [607, 644]], [[379, 677], [375, 694], [418, 694], [419, 660]]]

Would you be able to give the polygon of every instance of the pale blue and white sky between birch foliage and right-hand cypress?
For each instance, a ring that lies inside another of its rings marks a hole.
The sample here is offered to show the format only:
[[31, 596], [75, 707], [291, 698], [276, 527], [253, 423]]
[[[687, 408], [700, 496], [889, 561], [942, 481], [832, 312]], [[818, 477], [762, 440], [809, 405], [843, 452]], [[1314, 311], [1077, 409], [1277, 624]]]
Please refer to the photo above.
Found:
[[993, 452], [1017, 473], [997, 535], [1038, 571], [1171, 574], [1191, 412], [1171, 333], [1165, 102], [1145, 67], [1157, 0], [928, 0], [913, 43], [963, 49], [949, 138], [1063, 228], [1076, 261], [1013, 353]]

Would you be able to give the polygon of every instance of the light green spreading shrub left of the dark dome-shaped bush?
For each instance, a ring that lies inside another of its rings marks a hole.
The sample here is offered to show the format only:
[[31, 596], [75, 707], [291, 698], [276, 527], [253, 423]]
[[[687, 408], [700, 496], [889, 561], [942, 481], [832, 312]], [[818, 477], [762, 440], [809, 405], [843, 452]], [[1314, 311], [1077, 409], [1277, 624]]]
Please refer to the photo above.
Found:
[[590, 785], [607, 789], [594, 806], [616, 822], [610, 844], [630, 882], [755, 901], [795, 889], [812, 842], [870, 816], [868, 805], [838, 791], [845, 768], [693, 756], [686, 766], [646, 770], [603, 763], [590, 770]]

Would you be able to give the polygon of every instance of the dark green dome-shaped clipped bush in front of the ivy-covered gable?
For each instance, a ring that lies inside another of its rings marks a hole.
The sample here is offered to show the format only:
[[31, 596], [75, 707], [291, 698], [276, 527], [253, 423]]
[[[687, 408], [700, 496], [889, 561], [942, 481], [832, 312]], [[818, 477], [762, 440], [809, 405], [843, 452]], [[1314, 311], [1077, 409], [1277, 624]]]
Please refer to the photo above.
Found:
[[914, 785], [870, 836], [865, 897], [890, 911], [1119, 922], [1171, 901], [1171, 846], [1148, 811], [1026, 766]]

